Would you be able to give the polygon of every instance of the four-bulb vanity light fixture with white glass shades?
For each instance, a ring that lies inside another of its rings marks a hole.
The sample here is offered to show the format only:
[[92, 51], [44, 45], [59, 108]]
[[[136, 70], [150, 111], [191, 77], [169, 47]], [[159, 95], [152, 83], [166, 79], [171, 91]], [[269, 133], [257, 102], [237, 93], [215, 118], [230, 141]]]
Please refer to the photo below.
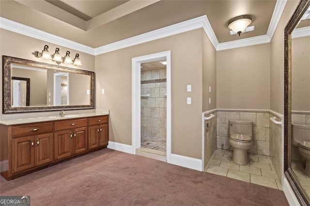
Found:
[[59, 51], [60, 51], [59, 48], [56, 48], [55, 53], [51, 55], [48, 51], [48, 45], [45, 45], [42, 52], [34, 51], [32, 52], [32, 54], [36, 58], [51, 59], [52, 61], [55, 61], [57, 64], [67, 63], [67, 64], [74, 64], [78, 66], [82, 65], [81, 60], [79, 59], [79, 54], [76, 54], [75, 58], [72, 60], [70, 57], [69, 51], [66, 52], [66, 55], [64, 57], [62, 57]]

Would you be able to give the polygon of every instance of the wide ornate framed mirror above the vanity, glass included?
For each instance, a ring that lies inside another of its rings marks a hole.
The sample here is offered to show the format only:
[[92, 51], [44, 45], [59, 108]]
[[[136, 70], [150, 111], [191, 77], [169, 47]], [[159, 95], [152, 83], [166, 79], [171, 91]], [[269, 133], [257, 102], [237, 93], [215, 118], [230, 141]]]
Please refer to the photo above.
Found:
[[2, 56], [2, 113], [94, 108], [94, 72]]

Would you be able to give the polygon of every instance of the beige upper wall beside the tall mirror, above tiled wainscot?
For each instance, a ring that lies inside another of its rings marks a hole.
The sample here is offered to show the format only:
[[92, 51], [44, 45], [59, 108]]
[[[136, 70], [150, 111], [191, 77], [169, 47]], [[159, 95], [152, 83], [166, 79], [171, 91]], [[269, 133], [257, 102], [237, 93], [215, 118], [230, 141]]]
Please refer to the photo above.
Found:
[[278, 27], [270, 42], [270, 109], [284, 114], [284, 28], [298, 0], [286, 3]]

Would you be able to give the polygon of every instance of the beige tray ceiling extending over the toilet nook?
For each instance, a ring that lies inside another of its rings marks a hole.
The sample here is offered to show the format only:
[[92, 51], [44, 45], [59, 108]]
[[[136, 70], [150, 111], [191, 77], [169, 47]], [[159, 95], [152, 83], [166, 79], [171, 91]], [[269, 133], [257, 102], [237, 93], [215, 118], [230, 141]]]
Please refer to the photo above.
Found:
[[[0, 15], [93, 48], [207, 15], [219, 43], [267, 33], [276, 0], [0, 0]], [[255, 31], [230, 35], [251, 15]]]

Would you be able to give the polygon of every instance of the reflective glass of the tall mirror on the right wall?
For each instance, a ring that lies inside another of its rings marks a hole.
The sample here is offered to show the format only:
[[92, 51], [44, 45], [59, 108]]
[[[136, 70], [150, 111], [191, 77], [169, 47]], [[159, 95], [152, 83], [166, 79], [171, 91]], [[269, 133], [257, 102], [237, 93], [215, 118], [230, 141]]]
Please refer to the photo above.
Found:
[[310, 197], [310, 7], [292, 32], [291, 168]]

